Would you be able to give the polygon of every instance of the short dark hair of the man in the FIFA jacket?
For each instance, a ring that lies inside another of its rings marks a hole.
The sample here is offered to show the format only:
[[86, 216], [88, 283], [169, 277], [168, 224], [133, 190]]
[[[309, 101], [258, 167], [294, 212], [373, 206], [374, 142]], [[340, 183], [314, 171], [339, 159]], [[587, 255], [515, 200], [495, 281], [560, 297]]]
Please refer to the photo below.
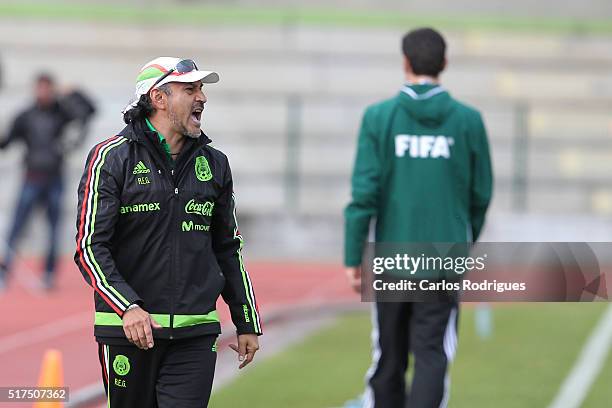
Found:
[[402, 39], [402, 51], [416, 75], [437, 77], [444, 69], [446, 42], [433, 28], [418, 28]]

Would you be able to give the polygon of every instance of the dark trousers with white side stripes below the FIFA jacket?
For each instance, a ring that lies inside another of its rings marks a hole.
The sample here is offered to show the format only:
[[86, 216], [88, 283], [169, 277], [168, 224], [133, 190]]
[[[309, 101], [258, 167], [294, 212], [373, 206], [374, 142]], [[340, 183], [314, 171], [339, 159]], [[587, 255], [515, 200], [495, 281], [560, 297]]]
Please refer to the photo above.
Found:
[[[372, 366], [367, 373], [365, 408], [445, 407], [448, 365], [457, 347], [456, 301], [377, 302], [372, 314]], [[408, 353], [413, 380], [406, 392]]]

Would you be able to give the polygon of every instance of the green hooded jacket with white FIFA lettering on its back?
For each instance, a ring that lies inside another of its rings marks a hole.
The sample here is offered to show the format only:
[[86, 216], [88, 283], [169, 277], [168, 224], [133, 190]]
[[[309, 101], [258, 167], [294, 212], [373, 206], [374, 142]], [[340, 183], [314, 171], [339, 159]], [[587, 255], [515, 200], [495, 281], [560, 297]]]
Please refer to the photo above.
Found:
[[478, 111], [438, 85], [405, 86], [367, 108], [345, 210], [345, 264], [376, 242], [471, 242], [482, 229], [493, 174]]

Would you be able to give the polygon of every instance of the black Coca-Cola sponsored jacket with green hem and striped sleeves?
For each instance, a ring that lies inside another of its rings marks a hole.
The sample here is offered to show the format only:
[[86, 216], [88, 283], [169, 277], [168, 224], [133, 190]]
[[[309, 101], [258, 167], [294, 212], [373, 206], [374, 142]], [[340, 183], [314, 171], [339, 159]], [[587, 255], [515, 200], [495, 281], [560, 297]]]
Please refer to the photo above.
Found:
[[176, 162], [156, 132], [132, 122], [90, 151], [79, 185], [75, 262], [94, 288], [98, 341], [127, 342], [137, 303], [156, 338], [220, 333], [221, 294], [239, 334], [261, 334], [243, 264], [227, 157], [202, 133]]

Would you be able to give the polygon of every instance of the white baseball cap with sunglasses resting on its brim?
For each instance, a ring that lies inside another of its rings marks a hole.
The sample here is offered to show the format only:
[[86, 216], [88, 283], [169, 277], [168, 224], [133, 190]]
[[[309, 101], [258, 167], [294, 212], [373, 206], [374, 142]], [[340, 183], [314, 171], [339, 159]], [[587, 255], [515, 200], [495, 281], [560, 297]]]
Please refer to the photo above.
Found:
[[147, 62], [140, 69], [136, 78], [134, 100], [123, 109], [123, 113], [135, 108], [140, 97], [148, 94], [153, 88], [158, 88], [169, 82], [196, 81], [214, 84], [219, 82], [219, 74], [213, 71], [200, 71], [191, 59], [157, 57]]

